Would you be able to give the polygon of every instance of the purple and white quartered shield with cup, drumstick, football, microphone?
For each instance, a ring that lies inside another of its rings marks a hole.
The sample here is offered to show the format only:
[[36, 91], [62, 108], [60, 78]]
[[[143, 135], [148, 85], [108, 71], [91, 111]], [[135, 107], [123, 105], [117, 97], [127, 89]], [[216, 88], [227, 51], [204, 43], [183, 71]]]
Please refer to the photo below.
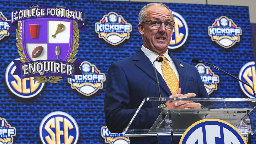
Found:
[[[62, 25], [61, 25], [62, 24]], [[29, 25], [39, 25], [37, 29], [30, 29]], [[60, 28], [64, 28], [61, 30]], [[55, 38], [52, 35], [55, 32]], [[35, 33], [37, 37], [35, 38]], [[33, 34], [34, 38], [31, 38]], [[68, 19], [38, 18], [22, 21], [22, 46], [28, 61], [55, 60], [66, 61], [70, 55], [73, 41], [73, 23]], [[37, 49], [42, 46], [43, 49]], [[56, 47], [59, 53], [55, 53]], [[57, 55], [56, 55], [57, 54]], [[34, 55], [32, 57], [32, 55]]]

